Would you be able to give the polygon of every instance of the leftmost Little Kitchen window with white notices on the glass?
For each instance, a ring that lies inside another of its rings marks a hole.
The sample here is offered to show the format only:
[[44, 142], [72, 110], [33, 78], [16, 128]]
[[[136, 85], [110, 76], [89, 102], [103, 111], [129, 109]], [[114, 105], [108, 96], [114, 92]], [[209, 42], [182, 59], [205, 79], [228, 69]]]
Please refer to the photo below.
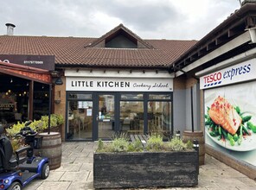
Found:
[[67, 98], [67, 139], [92, 139], [92, 94], [69, 93]]

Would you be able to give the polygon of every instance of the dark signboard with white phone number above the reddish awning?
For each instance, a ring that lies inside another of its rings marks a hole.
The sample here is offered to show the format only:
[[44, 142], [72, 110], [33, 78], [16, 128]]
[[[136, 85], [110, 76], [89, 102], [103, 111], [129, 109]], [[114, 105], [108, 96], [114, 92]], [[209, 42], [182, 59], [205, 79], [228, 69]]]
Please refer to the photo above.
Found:
[[0, 61], [54, 71], [54, 55], [0, 54]]

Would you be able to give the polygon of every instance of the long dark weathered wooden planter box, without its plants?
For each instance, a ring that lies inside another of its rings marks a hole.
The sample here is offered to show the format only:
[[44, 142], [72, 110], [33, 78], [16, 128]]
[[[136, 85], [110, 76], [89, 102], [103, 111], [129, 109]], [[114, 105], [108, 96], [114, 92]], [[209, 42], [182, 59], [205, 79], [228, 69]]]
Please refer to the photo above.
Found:
[[198, 184], [198, 153], [94, 153], [94, 188], [189, 187]]

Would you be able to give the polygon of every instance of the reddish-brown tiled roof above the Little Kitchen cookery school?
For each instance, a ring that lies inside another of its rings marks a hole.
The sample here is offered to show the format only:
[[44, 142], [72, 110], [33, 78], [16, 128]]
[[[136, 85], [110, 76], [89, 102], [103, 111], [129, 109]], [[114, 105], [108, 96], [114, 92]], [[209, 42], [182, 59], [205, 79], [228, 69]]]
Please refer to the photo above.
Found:
[[57, 66], [166, 68], [196, 41], [144, 40], [154, 48], [91, 48], [97, 38], [0, 35], [0, 54], [55, 55]]

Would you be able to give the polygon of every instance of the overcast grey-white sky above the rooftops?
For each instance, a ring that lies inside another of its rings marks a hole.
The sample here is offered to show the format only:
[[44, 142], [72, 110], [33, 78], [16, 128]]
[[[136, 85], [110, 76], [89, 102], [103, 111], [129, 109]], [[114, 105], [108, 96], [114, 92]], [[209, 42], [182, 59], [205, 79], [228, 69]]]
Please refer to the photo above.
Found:
[[123, 23], [143, 39], [200, 40], [239, 0], [0, 0], [0, 35], [100, 37]]

